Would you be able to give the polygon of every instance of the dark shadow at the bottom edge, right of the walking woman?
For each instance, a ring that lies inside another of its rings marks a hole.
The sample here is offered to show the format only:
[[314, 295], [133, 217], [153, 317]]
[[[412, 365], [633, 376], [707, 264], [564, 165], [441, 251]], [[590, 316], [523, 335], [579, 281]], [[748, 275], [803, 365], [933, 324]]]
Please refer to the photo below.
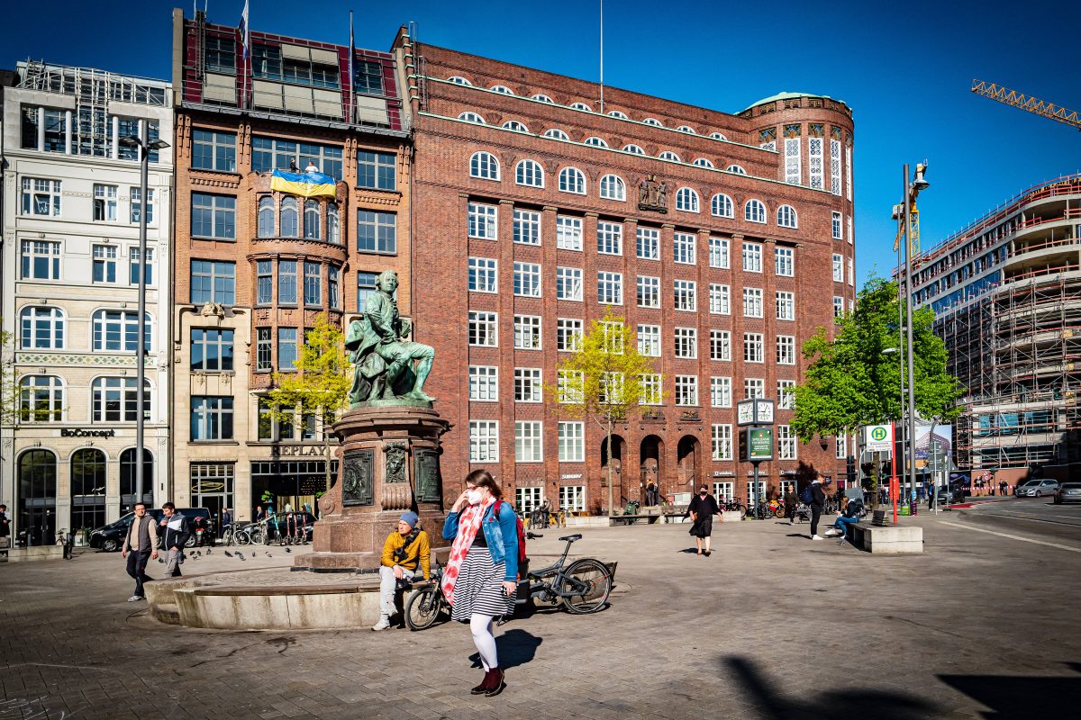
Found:
[[730, 655], [722, 664], [735, 676], [736, 683], [758, 708], [763, 720], [833, 720], [835, 718], [875, 718], [875, 720], [916, 720], [938, 708], [925, 699], [894, 691], [848, 689], [824, 691], [810, 697], [788, 698], [777, 693], [775, 682], [745, 658]]

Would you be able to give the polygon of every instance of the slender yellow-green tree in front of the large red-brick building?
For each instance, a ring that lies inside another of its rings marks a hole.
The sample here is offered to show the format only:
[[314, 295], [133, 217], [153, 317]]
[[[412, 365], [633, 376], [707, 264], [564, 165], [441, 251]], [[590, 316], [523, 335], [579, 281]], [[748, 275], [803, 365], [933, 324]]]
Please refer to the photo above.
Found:
[[[612, 491], [612, 426], [626, 420], [639, 405], [659, 404], [660, 376], [653, 361], [638, 352], [635, 334], [611, 311], [590, 323], [577, 340], [577, 352], [559, 364], [558, 382], [548, 392], [557, 409], [593, 420], [605, 431], [609, 449], [609, 516], [615, 514]], [[652, 382], [646, 382], [650, 376]]]

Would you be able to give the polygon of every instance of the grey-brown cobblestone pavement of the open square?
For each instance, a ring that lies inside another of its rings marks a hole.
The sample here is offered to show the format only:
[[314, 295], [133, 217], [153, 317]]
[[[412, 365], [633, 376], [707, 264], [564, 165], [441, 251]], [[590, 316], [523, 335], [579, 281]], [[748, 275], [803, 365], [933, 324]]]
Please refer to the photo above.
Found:
[[[470, 696], [467, 628], [211, 631], [124, 600], [118, 554], [0, 565], [0, 719], [1060, 718], [1081, 695], [1077, 553], [921, 515], [922, 556], [883, 557], [773, 520], [585, 529], [618, 560], [596, 615], [502, 626], [507, 690]], [[561, 548], [558, 531], [531, 554]], [[1011, 533], [1015, 534], [1015, 533]], [[1081, 543], [1059, 541], [1076, 546]], [[216, 552], [188, 574], [243, 566]], [[163, 566], [151, 563], [150, 573]]]

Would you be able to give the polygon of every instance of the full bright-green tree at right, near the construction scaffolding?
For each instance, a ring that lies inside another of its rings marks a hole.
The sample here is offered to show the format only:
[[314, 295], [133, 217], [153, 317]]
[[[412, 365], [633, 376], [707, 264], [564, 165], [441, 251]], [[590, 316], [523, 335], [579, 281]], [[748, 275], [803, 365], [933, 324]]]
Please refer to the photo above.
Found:
[[[791, 427], [802, 443], [900, 420], [904, 352], [898, 308], [905, 312], [897, 284], [872, 277], [859, 291], [855, 310], [836, 320], [832, 340], [820, 327], [803, 343], [803, 356], [814, 359], [804, 381], [790, 391], [796, 400]], [[912, 314], [913, 391], [917, 415], [942, 422], [960, 415], [958, 400], [965, 389], [946, 371], [946, 344], [932, 331], [933, 322], [931, 308]], [[879, 474], [876, 466], [876, 499]]]

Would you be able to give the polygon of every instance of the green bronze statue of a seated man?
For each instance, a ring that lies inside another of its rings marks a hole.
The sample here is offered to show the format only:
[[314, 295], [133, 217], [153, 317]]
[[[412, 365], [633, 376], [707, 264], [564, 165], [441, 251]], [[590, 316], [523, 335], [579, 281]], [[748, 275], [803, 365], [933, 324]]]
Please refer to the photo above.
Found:
[[345, 347], [356, 364], [350, 403], [395, 397], [435, 402], [424, 392], [424, 382], [436, 351], [431, 345], [404, 340], [412, 328], [398, 314], [393, 297], [398, 274], [385, 270], [375, 279], [375, 288], [364, 302], [364, 317], [350, 323], [346, 334]]

